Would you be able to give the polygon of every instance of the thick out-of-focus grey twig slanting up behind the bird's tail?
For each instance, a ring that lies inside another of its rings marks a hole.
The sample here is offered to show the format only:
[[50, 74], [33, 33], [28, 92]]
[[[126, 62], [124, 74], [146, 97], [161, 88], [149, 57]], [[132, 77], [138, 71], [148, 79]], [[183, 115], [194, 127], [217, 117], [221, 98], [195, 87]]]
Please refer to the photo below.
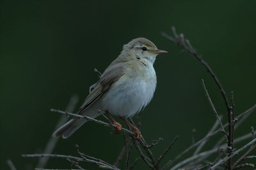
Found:
[[[75, 107], [76, 107], [76, 104], [78, 102], [78, 97], [77, 95], [73, 95], [71, 98], [70, 98], [70, 101], [68, 102], [67, 104], [67, 108], [65, 109], [65, 111], [68, 111], [68, 112], [72, 112], [74, 111]], [[57, 125], [56, 125], [56, 129], [58, 129], [61, 125], [63, 125], [65, 122], [67, 122], [67, 117], [65, 116], [62, 116], [60, 117], [60, 120], [58, 121]], [[45, 149], [44, 149], [44, 152], [43, 153], [52, 153], [52, 150], [54, 149], [54, 147], [56, 146], [58, 140], [60, 138], [53, 138], [51, 136], [51, 138], [49, 139], [49, 141], [47, 142], [46, 146], [45, 146]], [[36, 165], [36, 167], [38, 168], [43, 168], [47, 165], [47, 162], [49, 160], [49, 157], [41, 157], [39, 160], [38, 160], [38, 164]]]

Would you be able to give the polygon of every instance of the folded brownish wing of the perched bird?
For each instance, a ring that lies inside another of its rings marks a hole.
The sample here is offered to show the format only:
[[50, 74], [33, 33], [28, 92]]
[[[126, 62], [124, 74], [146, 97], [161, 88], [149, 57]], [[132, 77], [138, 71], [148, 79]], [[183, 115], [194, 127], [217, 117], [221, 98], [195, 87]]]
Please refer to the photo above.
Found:
[[[119, 64], [118, 64], [119, 65]], [[113, 83], [115, 83], [117, 80], [119, 80], [122, 76], [124, 76], [122, 66], [114, 66], [109, 67], [104, 71], [102, 76], [100, 77], [100, 80], [93, 85], [92, 92], [86, 97], [84, 100], [84, 103], [79, 108], [79, 111], [77, 114], [81, 114], [84, 110], [86, 110], [89, 106], [91, 106], [97, 99], [99, 99], [103, 94], [108, 92], [109, 88]]]

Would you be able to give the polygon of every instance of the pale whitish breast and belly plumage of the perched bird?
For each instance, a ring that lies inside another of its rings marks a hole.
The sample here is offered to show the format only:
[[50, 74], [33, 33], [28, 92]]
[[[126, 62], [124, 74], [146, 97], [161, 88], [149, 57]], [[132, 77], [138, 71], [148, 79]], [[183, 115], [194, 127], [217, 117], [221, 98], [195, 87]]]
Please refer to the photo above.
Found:
[[142, 75], [123, 76], [114, 83], [102, 99], [103, 110], [112, 115], [132, 117], [147, 106], [156, 89], [156, 72], [152, 64], [143, 68]]

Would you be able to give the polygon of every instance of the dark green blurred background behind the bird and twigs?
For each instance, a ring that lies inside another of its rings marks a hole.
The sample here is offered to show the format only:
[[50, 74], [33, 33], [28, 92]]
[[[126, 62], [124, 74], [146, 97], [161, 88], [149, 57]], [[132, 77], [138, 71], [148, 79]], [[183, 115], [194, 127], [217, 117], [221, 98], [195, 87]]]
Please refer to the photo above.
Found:
[[[225, 104], [205, 68], [161, 32], [174, 25], [212, 67], [230, 98], [234, 91], [236, 115], [255, 104], [256, 1], [1, 1], [1, 168], [11, 159], [17, 169], [33, 169], [38, 159], [22, 153], [40, 153], [60, 118], [50, 108], [65, 110], [70, 97], [79, 96], [76, 110], [97, 81], [93, 68], [104, 71], [131, 39], [145, 37], [167, 50], [154, 64], [157, 89], [140, 113], [148, 143], [159, 137], [155, 155], [163, 153], [175, 136], [175, 145], [163, 162], [209, 131], [216, 117], [201, 79], [223, 122]], [[236, 131], [250, 132], [256, 114]], [[99, 117], [101, 120], [104, 118]], [[123, 136], [93, 122], [68, 139], [60, 139], [54, 153], [81, 151], [113, 163]], [[220, 136], [219, 136], [220, 137]], [[217, 139], [217, 138], [216, 138]], [[214, 139], [210, 143], [215, 143]], [[132, 153], [132, 160], [138, 157]], [[122, 162], [124, 164], [124, 162]], [[50, 169], [68, 169], [70, 163], [51, 159]], [[83, 164], [86, 169], [97, 169]], [[121, 166], [122, 167], [122, 166]], [[143, 160], [136, 169], [145, 168]]]

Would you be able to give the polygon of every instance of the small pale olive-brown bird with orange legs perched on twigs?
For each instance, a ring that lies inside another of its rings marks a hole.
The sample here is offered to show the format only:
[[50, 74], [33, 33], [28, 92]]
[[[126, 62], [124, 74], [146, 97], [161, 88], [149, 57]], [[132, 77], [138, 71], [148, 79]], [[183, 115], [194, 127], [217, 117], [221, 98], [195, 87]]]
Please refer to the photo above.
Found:
[[[106, 68], [99, 81], [90, 87], [77, 114], [98, 117], [104, 111], [116, 125], [116, 133], [122, 125], [111, 115], [118, 116], [129, 125], [137, 139], [140, 131], [126, 118], [140, 112], [151, 101], [156, 89], [156, 72], [153, 67], [156, 56], [167, 53], [158, 50], [156, 45], [146, 38], [136, 38], [124, 45], [120, 55]], [[87, 120], [72, 118], [57, 129], [52, 136], [68, 138]]]

